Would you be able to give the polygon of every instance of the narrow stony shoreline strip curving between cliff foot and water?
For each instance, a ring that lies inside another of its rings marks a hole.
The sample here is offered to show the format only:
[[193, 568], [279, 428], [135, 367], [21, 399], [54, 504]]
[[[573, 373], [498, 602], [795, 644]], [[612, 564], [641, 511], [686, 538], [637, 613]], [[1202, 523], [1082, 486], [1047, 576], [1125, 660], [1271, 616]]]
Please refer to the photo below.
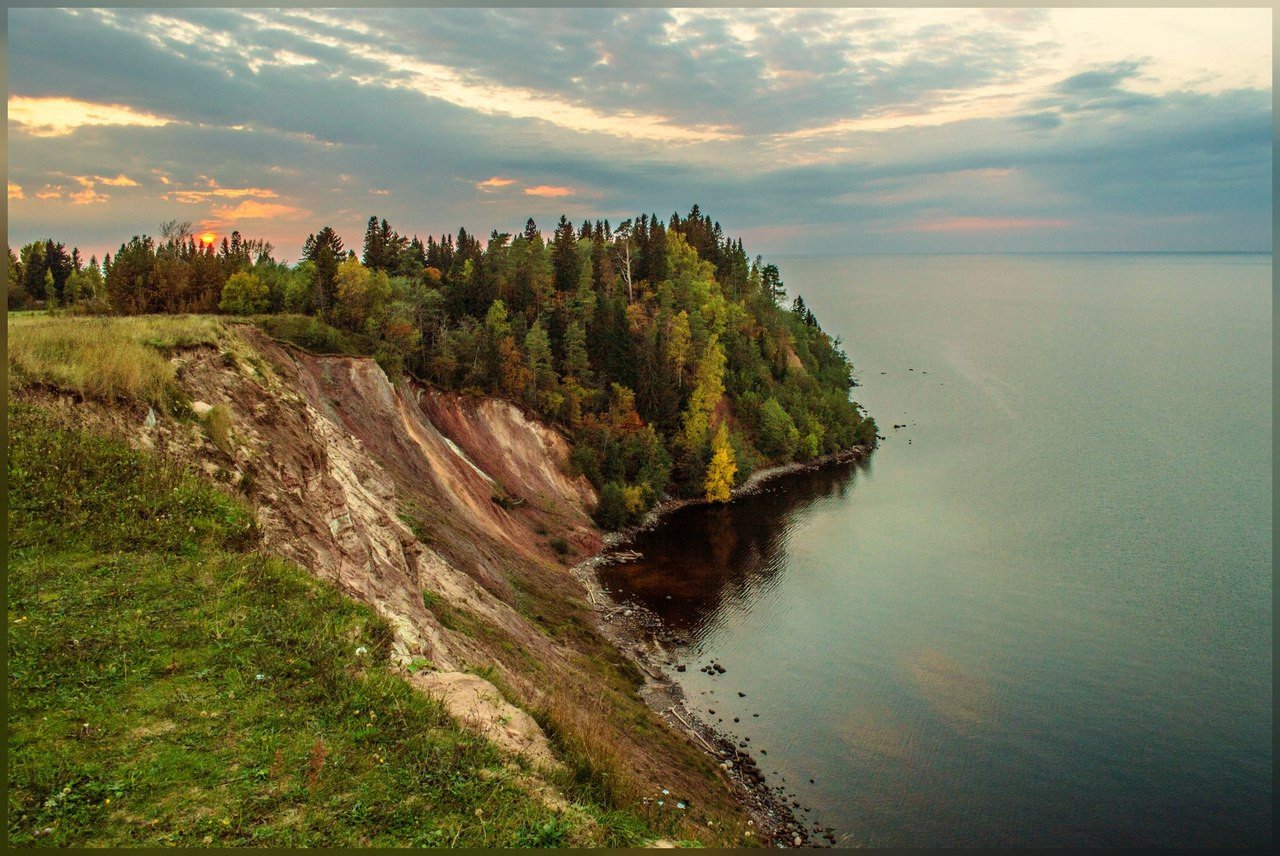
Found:
[[[813, 461], [765, 467], [751, 473], [745, 482], [733, 489], [730, 502], [759, 491], [768, 481], [780, 476], [809, 472], [835, 463], [861, 461], [876, 447], [856, 445], [850, 449], [814, 458]], [[654, 505], [644, 519], [623, 530], [608, 532], [600, 550], [572, 566], [571, 571], [588, 592], [588, 601], [596, 617], [596, 628], [620, 651], [630, 656], [644, 674], [645, 685], [640, 696], [668, 725], [682, 733], [690, 742], [699, 746], [719, 763], [726, 779], [733, 786], [735, 796], [746, 810], [758, 836], [765, 846], [796, 847], [822, 842], [822, 833], [810, 832], [795, 816], [781, 786], [771, 787], [750, 752], [741, 750], [735, 741], [714, 725], [701, 720], [685, 704], [685, 690], [678, 681], [669, 677], [667, 668], [675, 665], [671, 654], [663, 647], [662, 637], [666, 628], [660, 619], [648, 610], [621, 604], [600, 586], [596, 571], [631, 554], [617, 551], [639, 532], [652, 530], [671, 513], [690, 505], [710, 505], [705, 499], [668, 499]], [[832, 839], [828, 837], [828, 842]]]

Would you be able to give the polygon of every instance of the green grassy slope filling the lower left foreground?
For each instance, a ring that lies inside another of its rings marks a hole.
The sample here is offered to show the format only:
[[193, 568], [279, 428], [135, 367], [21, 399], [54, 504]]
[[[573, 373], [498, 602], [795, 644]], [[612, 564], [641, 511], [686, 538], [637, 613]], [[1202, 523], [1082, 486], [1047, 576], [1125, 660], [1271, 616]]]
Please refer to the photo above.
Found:
[[12, 844], [654, 837], [521, 789], [388, 663], [385, 622], [252, 551], [247, 509], [178, 464], [14, 406], [9, 480]]

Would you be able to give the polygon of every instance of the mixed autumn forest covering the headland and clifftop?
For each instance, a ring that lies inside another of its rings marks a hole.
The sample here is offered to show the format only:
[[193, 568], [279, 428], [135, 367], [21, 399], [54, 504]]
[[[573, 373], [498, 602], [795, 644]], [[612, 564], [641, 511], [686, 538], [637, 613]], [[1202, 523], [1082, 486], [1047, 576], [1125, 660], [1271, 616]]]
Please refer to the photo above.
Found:
[[876, 441], [840, 339], [696, 205], [613, 226], [562, 215], [550, 241], [530, 219], [516, 235], [424, 243], [371, 216], [358, 256], [329, 226], [296, 265], [273, 252], [180, 221], [101, 262], [37, 241], [9, 250], [8, 306], [246, 316], [312, 351], [372, 356], [393, 381], [517, 402], [568, 435], [604, 528]]

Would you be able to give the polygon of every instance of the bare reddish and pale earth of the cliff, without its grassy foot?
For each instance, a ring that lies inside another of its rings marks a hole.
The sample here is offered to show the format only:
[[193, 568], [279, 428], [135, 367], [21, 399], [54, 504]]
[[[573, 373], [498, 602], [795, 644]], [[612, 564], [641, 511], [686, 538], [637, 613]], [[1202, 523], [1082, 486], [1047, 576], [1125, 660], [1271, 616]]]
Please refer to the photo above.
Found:
[[556, 659], [516, 609], [512, 572], [566, 576], [552, 537], [599, 544], [595, 495], [564, 475], [564, 439], [506, 402], [393, 386], [371, 360], [310, 354], [247, 326], [234, 335], [232, 356], [179, 357], [178, 379], [228, 412], [225, 463], [250, 480], [265, 546], [371, 604], [406, 663], [489, 660], [424, 592]]

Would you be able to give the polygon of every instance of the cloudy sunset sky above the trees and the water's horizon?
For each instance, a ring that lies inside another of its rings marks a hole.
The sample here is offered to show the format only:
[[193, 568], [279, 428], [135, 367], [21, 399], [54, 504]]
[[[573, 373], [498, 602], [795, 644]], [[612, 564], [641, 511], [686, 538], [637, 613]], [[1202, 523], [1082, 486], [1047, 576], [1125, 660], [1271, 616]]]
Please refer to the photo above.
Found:
[[10, 9], [9, 243], [1271, 250], [1270, 9]]

